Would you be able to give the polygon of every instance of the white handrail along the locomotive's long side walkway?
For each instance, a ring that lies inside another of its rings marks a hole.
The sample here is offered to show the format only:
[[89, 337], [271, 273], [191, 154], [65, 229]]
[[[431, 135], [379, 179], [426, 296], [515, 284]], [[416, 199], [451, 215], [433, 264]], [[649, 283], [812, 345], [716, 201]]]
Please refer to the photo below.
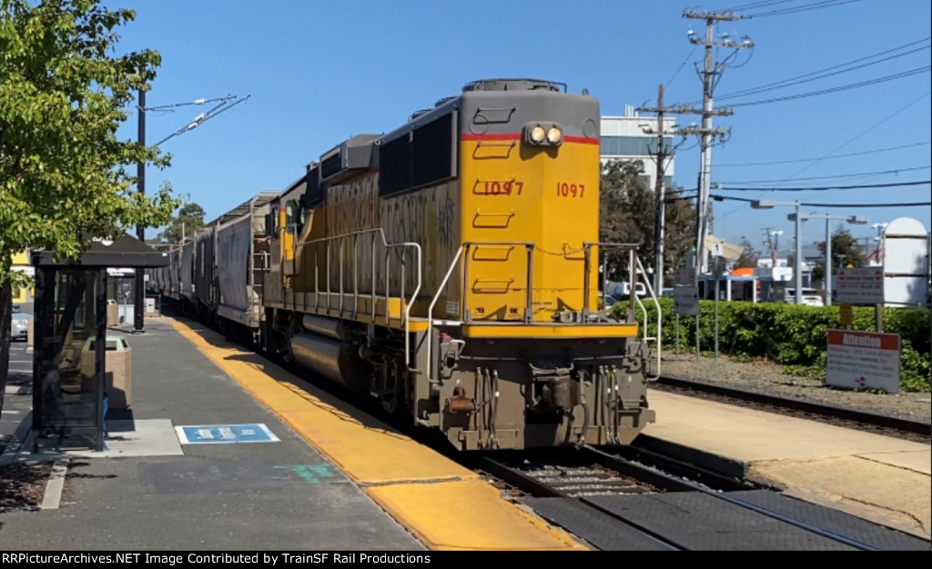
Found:
[[[352, 247], [353, 247], [353, 255], [352, 255], [353, 257], [353, 314], [355, 315], [359, 312], [358, 274], [359, 274], [360, 255], [356, 254], [356, 251], [357, 251], [357, 244], [359, 243], [359, 240], [360, 240], [359, 237], [365, 236], [365, 235], [372, 236], [372, 273], [371, 274], [372, 274], [372, 318], [373, 318], [373, 321], [375, 321], [375, 318], [376, 318], [376, 297], [378, 296], [378, 287], [376, 286], [376, 270], [375, 270], [377, 237], [381, 237], [382, 247], [385, 249], [384, 285], [385, 285], [385, 321], [386, 321], [386, 324], [388, 324], [391, 320], [391, 311], [389, 309], [389, 299], [391, 298], [391, 272], [390, 272], [391, 264], [389, 262], [389, 259], [390, 259], [389, 252], [393, 249], [399, 249], [402, 251], [400, 255], [402, 259], [401, 271], [400, 271], [400, 284], [401, 284], [401, 299], [402, 299], [402, 302], [404, 302], [404, 317], [402, 318], [404, 320], [404, 365], [405, 367], [410, 369], [410, 365], [411, 365], [411, 338], [410, 338], [411, 306], [414, 305], [415, 300], [417, 300], [418, 293], [420, 292], [420, 287], [421, 287], [422, 256], [421, 256], [421, 249], [420, 249], [419, 243], [415, 243], [413, 241], [403, 241], [400, 243], [389, 243], [388, 240], [385, 238], [385, 232], [382, 230], [381, 227], [377, 227], [375, 229], [363, 229], [361, 231], [352, 231], [352, 232], [344, 233], [341, 235], [335, 235], [331, 237], [322, 237], [319, 239], [311, 239], [309, 241], [304, 241], [302, 243], [299, 243], [297, 246], [301, 248], [308, 247], [308, 246], [315, 246], [314, 247], [314, 301], [315, 301], [315, 306], [318, 308], [320, 307], [320, 294], [321, 294], [321, 291], [320, 291], [321, 281], [320, 281], [319, 274], [318, 274], [319, 265], [317, 263], [318, 261], [317, 249], [318, 248], [316, 247], [316, 245], [318, 244], [326, 245], [326, 253], [327, 253], [326, 267], [327, 268], [326, 268], [324, 277], [326, 278], [326, 281], [327, 281], [326, 295], [327, 295], [327, 310], [329, 312], [330, 298], [332, 294], [334, 294], [332, 291], [330, 291], [330, 265], [331, 265], [330, 244], [338, 239], [339, 241], [337, 242], [337, 245], [339, 246], [340, 253], [341, 253], [339, 255], [340, 257], [340, 263], [339, 263], [340, 312], [341, 313], [343, 312], [343, 300], [344, 300], [344, 294], [345, 294], [343, 290], [343, 276], [344, 276], [343, 264], [344, 264], [344, 259], [346, 258], [346, 256], [343, 255], [342, 252], [343, 252], [344, 241], [347, 238], [351, 237]], [[410, 299], [404, 297], [404, 277], [405, 277], [405, 266], [406, 266], [406, 263], [405, 263], [406, 254], [405, 253], [408, 249], [413, 249], [417, 253], [417, 263], [418, 263], [418, 267], [416, 271], [417, 285], [415, 286], [414, 291], [411, 293]]]

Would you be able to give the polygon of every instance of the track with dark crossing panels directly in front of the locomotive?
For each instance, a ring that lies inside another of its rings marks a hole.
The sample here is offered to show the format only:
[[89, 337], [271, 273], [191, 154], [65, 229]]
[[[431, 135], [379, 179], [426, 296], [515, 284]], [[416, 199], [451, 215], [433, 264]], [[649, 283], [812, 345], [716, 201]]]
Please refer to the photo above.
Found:
[[929, 548], [924, 540], [746, 481], [692, 472], [692, 479], [706, 479], [700, 483], [589, 446], [487, 454], [473, 467], [596, 549]]

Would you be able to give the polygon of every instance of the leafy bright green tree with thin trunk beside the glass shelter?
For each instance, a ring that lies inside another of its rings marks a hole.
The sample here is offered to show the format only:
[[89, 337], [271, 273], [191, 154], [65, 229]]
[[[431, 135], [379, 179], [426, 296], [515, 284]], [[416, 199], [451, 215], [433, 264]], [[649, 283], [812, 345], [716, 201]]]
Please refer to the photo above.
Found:
[[[117, 139], [134, 93], [148, 88], [157, 52], [115, 55], [132, 10], [100, 0], [0, 0], [0, 408], [7, 384], [14, 252], [75, 259], [89, 237], [159, 226], [171, 187], [140, 196], [131, 165], [168, 156]], [[134, 169], [134, 167], [132, 168]]]

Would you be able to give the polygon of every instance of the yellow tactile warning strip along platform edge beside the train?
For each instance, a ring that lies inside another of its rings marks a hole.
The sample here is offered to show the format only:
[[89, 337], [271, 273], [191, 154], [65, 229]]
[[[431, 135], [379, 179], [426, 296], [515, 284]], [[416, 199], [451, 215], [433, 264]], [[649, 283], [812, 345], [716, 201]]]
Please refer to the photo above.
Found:
[[468, 468], [220, 335], [174, 328], [431, 549], [585, 550]]

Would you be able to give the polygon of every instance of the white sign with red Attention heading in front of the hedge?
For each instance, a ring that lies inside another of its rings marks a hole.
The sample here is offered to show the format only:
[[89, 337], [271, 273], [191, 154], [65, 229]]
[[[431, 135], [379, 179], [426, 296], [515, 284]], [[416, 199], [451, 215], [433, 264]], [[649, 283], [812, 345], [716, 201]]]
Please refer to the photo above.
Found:
[[899, 393], [899, 335], [829, 330], [825, 383]]

